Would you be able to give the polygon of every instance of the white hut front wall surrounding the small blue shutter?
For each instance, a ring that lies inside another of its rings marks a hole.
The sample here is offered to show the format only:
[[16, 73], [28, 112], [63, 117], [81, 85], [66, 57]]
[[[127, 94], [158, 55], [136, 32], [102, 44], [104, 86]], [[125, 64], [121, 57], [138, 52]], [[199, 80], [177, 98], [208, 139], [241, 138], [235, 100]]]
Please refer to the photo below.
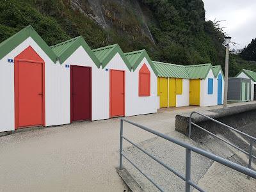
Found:
[[216, 79], [212, 70], [209, 71], [207, 77], [200, 81], [200, 106], [216, 106], [218, 104], [218, 84], [213, 81], [213, 93], [208, 94], [208, 79]]

